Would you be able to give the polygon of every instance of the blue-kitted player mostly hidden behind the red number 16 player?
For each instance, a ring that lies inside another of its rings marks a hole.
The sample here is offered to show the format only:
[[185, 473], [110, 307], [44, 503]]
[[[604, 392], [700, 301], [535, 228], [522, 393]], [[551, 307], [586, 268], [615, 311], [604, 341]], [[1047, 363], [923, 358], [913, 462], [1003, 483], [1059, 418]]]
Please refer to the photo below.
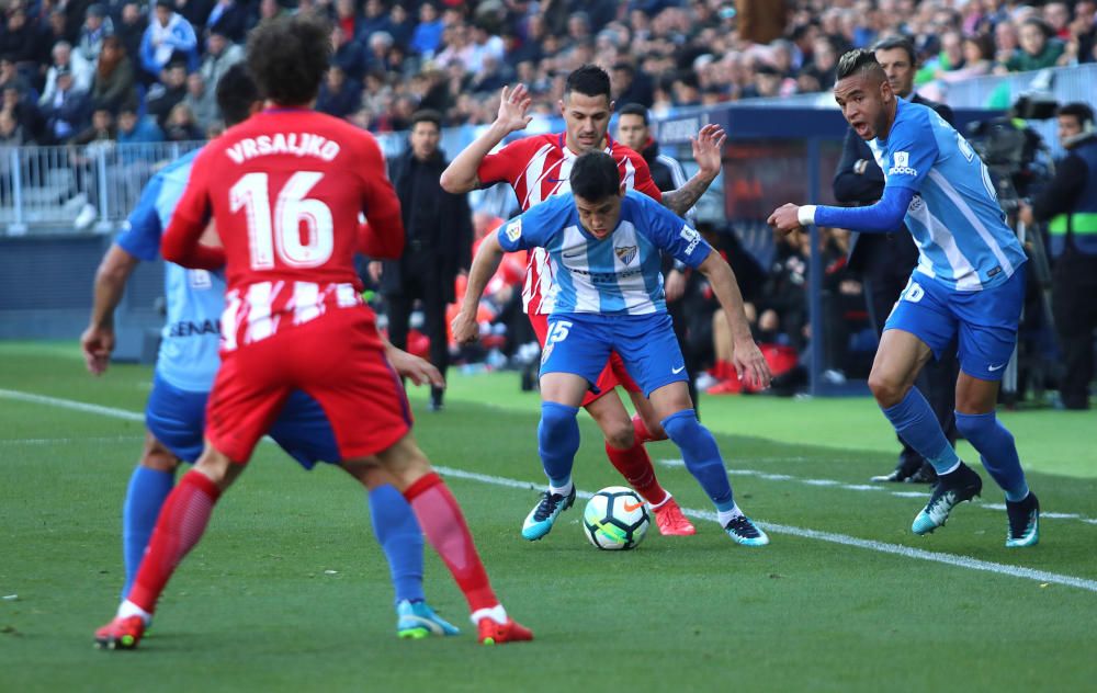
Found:
[[[245, 121], [255, 106], [262, 104], [242, 64], [229, 68], [218, 80], [217, 104], [229, 126]], [[125, 230], [97, 272], [91, 321], [80, 340], [88, 368], [97, 375], [106, 370], [113, 351], [113, 315], [126, 280], [139, 261], [155, 260], [159, 254], [160, 236], [183, 194], [196, 155], [188, 154], [152, 177]], [[206, 400], [220, 365], [217, 345], [225, 309], [224, 273], [166, 263], [165, 288], [168, 321], [145, 410], [145, 448], [129, 478], [122, 513], [123, 597], [133, 584], [160, 508], [174, 486], [180, 461], [193, 463], [202, 453]], [[387, 355], [397, 371], [417, 383], [441, 382], [437, 370], [422, 359], [392, 345]], [[324, 411], [304, 393], [291, 395], [271, 436], [306, 469], [319, 461], [339, 462]], [[396, 590], [397, 634], [456, 634], [457, 629], [434, 614], [425, 601], [422, 533], [410, 505], [380, 470], [360, 480], [369, 489], [373, 530], [388, 559]]]

